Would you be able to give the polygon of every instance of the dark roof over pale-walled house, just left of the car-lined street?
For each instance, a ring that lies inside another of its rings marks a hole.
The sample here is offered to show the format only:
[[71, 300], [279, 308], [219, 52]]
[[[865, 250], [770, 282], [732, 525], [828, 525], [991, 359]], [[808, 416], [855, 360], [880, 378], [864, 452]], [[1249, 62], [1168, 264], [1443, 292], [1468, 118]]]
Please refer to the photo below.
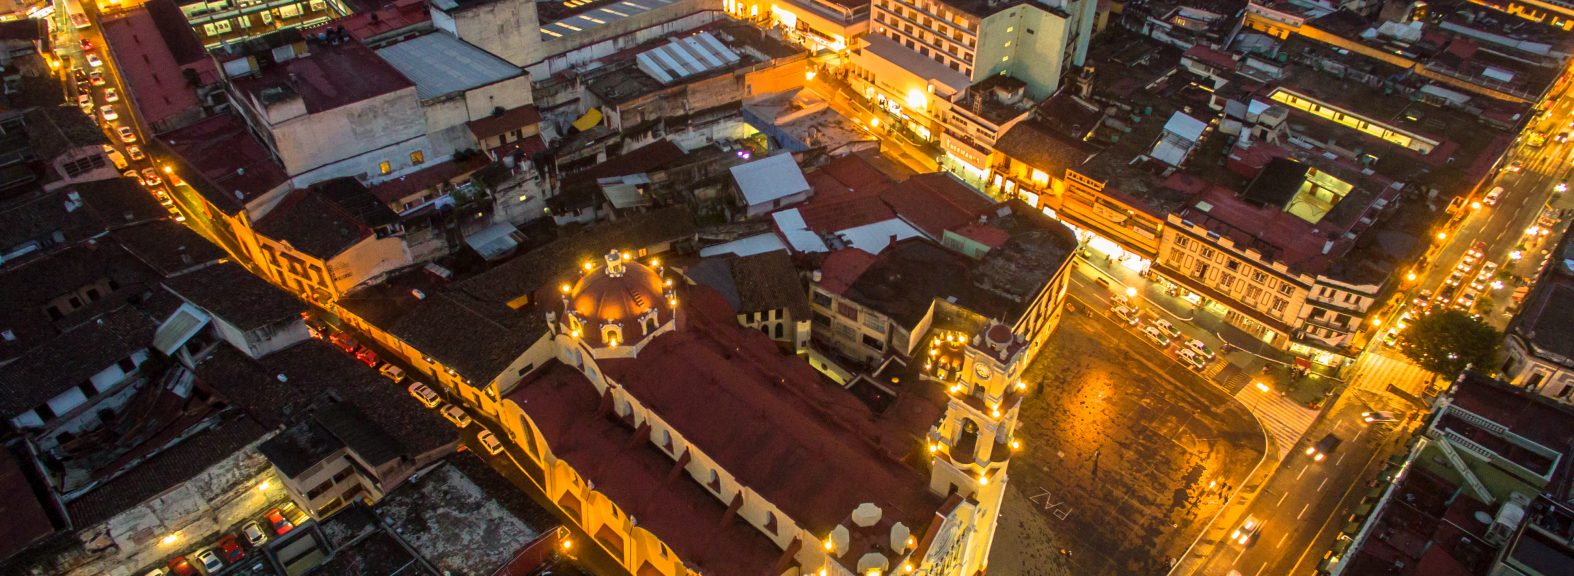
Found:
[[208, 266], [164, 280], [164, 286], [241, 330], [299, 318], [305, 304], [241, 264]]

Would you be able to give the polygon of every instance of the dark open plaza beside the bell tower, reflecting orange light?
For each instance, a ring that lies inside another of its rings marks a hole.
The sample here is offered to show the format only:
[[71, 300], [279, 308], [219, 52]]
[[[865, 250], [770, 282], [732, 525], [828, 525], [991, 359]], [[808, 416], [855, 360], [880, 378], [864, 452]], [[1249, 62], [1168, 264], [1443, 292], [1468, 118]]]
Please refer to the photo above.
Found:
[[1001, 573], [1163, 574], [1262, 458], [1243, 406], [1102, 315], [1067, 313], [1025, 379]]

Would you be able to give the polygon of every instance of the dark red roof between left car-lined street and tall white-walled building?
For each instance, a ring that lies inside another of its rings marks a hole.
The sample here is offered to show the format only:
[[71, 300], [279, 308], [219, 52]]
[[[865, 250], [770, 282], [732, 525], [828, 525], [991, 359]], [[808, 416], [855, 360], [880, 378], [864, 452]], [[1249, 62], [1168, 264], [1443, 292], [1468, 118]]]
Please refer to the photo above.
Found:
[[178, 173], [225, 214], [246, 209], [247, 201], [290, 178], [235, 113], [208, 116], [159, 140], [184, 161]]

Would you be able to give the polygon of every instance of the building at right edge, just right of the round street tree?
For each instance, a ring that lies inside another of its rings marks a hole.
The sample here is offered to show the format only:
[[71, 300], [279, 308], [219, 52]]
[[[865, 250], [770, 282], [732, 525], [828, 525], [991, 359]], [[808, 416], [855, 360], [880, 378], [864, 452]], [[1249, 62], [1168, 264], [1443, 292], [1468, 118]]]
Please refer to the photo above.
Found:
[[1552, 249], [1535, 288], [1509, 321], [1503, 378], [1520, 389], [1574, 403], [1574, 234]]

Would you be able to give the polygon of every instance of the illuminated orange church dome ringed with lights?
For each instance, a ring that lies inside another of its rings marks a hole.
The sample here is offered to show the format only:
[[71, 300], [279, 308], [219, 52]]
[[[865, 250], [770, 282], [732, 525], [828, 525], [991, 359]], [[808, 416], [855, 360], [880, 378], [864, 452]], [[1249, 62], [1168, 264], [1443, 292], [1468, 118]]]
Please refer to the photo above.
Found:
[[634, 343], [672, 319], [661, 274], [626, 255], [608, 253], [570, 288], [565, 305], [573, 329], [595, 345]]

